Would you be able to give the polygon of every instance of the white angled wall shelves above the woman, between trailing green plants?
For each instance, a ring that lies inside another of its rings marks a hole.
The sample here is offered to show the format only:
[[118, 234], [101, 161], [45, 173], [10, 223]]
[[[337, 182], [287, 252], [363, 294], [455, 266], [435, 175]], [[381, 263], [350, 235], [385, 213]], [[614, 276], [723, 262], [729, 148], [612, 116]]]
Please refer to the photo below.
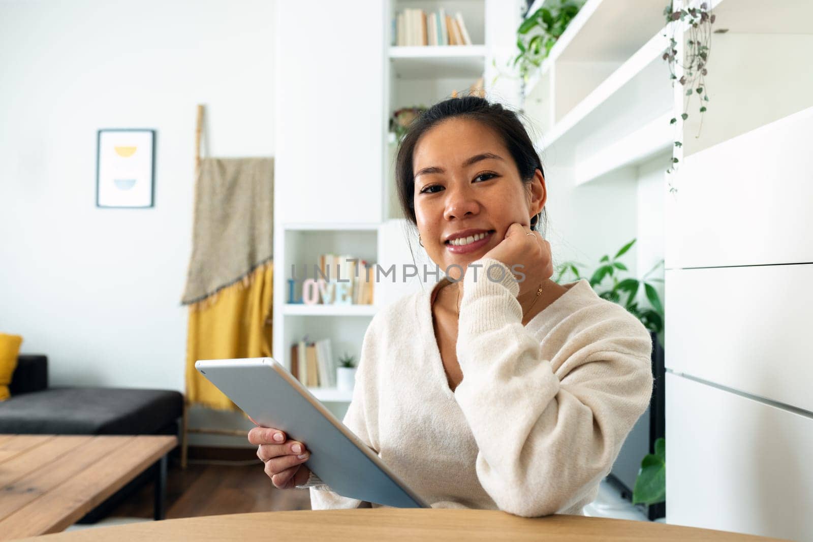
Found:
[[538, 145], [557, 165], [579, 164], [577, 184], [671, 150], [671, 117], [658, 124], [673, 104], [662, 10], [651, 0], [588, 0], [526, 85]]

